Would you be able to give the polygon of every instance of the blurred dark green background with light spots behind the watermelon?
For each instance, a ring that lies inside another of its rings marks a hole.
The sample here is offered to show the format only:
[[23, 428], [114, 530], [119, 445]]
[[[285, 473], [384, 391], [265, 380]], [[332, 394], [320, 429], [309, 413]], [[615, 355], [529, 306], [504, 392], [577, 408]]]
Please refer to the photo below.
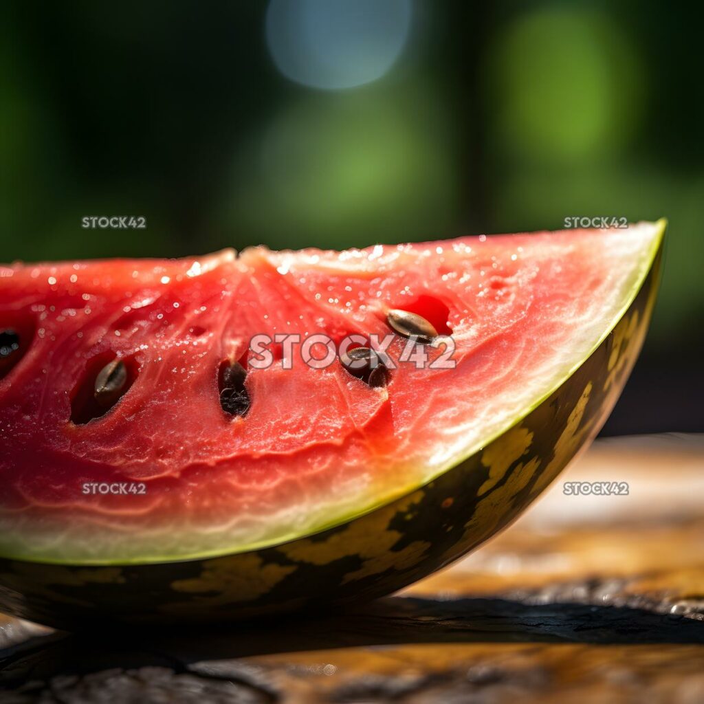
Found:
[[[0, 260], [670, 219], [607, 433], [704, 430], [699, 6], [4, 4]], [[146, 230], [86, 230], [142, 215]]]

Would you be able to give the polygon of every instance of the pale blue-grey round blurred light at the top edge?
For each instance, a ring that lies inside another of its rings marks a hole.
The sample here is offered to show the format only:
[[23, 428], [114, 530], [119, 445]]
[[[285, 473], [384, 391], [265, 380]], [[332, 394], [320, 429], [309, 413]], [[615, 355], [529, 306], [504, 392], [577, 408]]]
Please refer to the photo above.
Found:
[[351, 88], [389, 71], [406, 44], [411, 14], [410, 0], [272, 0], [267, 42], [291, 80]]

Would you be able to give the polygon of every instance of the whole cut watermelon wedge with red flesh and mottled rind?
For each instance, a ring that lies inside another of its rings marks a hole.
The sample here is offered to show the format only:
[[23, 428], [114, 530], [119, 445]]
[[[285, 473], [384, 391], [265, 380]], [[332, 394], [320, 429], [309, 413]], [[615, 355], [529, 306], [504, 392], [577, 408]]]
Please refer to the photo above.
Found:
[[0, 608], [223, 620], [448, 564], [598, 432], [664, 230], [0, 266]]

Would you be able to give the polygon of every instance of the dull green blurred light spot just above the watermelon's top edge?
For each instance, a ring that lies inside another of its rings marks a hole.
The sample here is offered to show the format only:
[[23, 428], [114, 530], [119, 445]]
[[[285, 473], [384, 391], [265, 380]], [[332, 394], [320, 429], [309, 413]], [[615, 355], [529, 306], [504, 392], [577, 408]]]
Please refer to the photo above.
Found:
[[[456, 218], [456, 168], [427, 94], [309, 96], [237, 161], [230, 221], [270, 246], [432, 238]], [[413, 107], [416, 106], [415, 111]]]

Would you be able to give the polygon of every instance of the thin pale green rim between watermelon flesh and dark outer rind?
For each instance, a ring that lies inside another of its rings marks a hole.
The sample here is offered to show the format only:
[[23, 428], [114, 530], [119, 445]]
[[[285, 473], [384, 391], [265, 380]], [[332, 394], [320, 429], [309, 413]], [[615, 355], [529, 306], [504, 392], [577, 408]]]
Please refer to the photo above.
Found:
[[[433, 482], [435, 479], [440, 477], [442, 474], [445, 474], [449, 470], [453, 469], [453, 467], [456, 467], [460, 465], [461, 463], [465, 462], [468, 458], [471, 458], [472, 455], [476, 454], [477, 452], [481, 451], [482, 448], [488, 446], [492, 442], [496, 441], [499, 439], [501, 436], [503, 436], [505, 433], [510, 431], [513, 427], [517, 426], [522, 422], [530, 413], [532, 413], [536, 408], [541, 406], [542, 403], [544, 403], [548, 398], [550, 398], [555, 391], [557, 391], [560, 386], [565, 384], [567, 382], [567, 379], [570, 379], [572, 375], [574, 375], [577, 370], [579, 370], [580, 367], [584, 364], [584, 362], [589, 359], [593, 353], [596, 352], [596, 350], [603, 344], [605, 339], [608, 338], [608, 336], [613, 332], [615, 327], [618, 325], [620, 320], [624, 318], [624, 315], [626, 315], [627, 311], [631, 306], [633, 305], [634, 301], [636, 300], [636, 296], [639, 294], [639, 291], [642, 289], [643, 284], [646, 282], [646, 279], [648, 277], [648, 274], [650, 273], [650, 270], [653, 268], [653, 264], [655, 263], [655, 259], [658, 255], [658, 252], [660, 251], [662, 247], [662, 241], [663, 237], [665, 234], [665, 230], [667, 228], [667, 219], [666, 218], [660, 218], [660, 220], [657, 220], [655, 222], [650, 222], [650, 221], [640, 221], [637, 223], [634, 223], [633, 225], [630, 225], [629, 227], [638, 227], [638, 228], [648, 228], [652, 229], [652, 239], [650, 239], [650, 246], [648, 247], [648, 250], [643, 256], [641, 260], [641, 265], [639, 269], [637, 270], [637, 273], [634, 274], [634, 284], [627, 289], [627, 294], [624, 295], [623, 298], [623, 303], [622, 306], [617, 310], [617, 313], [612, 316], [610, 322], [608, 325], [605, 325], [604, 327], [604, 332], [601, 334], [601, 336], [596, 340], [596, 342], [589, 348], [588, 353], [584, 354], [582, 358], [580, 358], [576, 363], [574, 363], [567, 372], [561, 372], [559, 376], [555, 377], [555, 382], [549, 386], [548, 390], [545, 391], [544, 393], [540, 394], [534, 401], [531, 403], [527, 404], [520, 410], [519, 413], [517, 413], [515, 416], [513, 416], [510, 420], [507, 420], [501, 427], [499, 427], [496, 431], [493, 433], [489, 434], [486, 436], [486, 438], [481, 439], [480, 441], [476, 441], [474, 444], [471, 446], [468, 446], [467, 448], [463, 448], [460, 452], [454, 454], [454, 455], [448, 455], [448, 460], [444, 463], [439, 463], [436, 465], [436, 467], [432, 468], [432, 472], [429, 472], [424, 479], [420, 482], [410, 482], [405, 486], [399, 486], [396, 491], [391, 491], [391, 492], [386, 492], [379, 501], [375, 501], [372, 503], [367, 503], [367, 505], [364, 506], [364, 508], [356, 509], [353, 511], [349, 511], [346, 513], [339, 513], [337, 514], [334, 519], [329, 520], [327, 522], [319, 522], [318, 524], [315, 525], [313, 529], [307, 530], [305, 532], [297, 533], [297, 532], [291, 532], [290, 534], [279, 534], [276, 539], [263, 539], [260, 541], [252, 541], [250, 543], [243, 543], [238, 546], [233, 546], [232, 548], [227, 548], [227, 549], [222, 549], [222, 548], [216, 548], [213, 551], [199, 551], [199, 553], [194, 554], [194, 555], [178, 555], [178, 556], [170, 556], [168, 554], [165, 555], [151, 555], [149, 558], [122, 558], [122, 559], [115, 559], [115, 558], [108, 558], [106, 560], [95, 560], [95, 559], [88, 559], [88, 560], [75, 560], [75, 559], [67, 559], [67, 558], [61, 558], [61, 557], [56, 557], [54, 559], [51, 558], [46, 558], [42, 556], [40, 559], [32, 559], [29, 558], [26, 555], [4, 555], [4, 558], [6, 559], [12, 559], [12, 560], [19, 560], [19, 561], [30, 561], [30, 562], [37, 562], [37, 563], [44, 563], [44, 564], [54, 564], [54, 565], [81, 565], [81, 566], [90, 566], [90, 565], [100, 565], [100, 566], [121, 566], [121, 565], [151, 565], [151, 564], [164, 564], [168, 562], [192, 562], [192, 561], [197, 561], [197, 560], [204, 560], [204, 559], [212, 559], [212, 558], [219, 558], [225, 555], [236, 555], [239, 553], [249, 553], [249, 552], [255, 552], [258, 550], [261, 550], [263, 548], [271, 548], [273, 546], [277, 545], [283, 545], [285, 543], [291, 543], [294, 541], [297, 541], [299, 539], [306, 539], [309, 538], [310, 536], [313, 536], [315, 534], [319, 534], [321, 532], [325, 532], [329, 529], [334, 529], [336, 527], [339, 527], [341, 525], [344, 525], [348, 522], [351, 522], [353, 520], [356, 520], [360, 517], [363, 517], [364, 515], [373, 513], [375, 510], [378, 510], [379, 508], [382, 508], [386, 505], [389, 505], [390, 503], [393, 503], [394, 501], [398, 501], [399, 498], [403, 498], [403, 496], [406, 496], [413, 491], [422, 488], [422, 486], [426, 486], [427, 484], [430, 484]], [[635, 269], [634, 269], [635, 270]]]

